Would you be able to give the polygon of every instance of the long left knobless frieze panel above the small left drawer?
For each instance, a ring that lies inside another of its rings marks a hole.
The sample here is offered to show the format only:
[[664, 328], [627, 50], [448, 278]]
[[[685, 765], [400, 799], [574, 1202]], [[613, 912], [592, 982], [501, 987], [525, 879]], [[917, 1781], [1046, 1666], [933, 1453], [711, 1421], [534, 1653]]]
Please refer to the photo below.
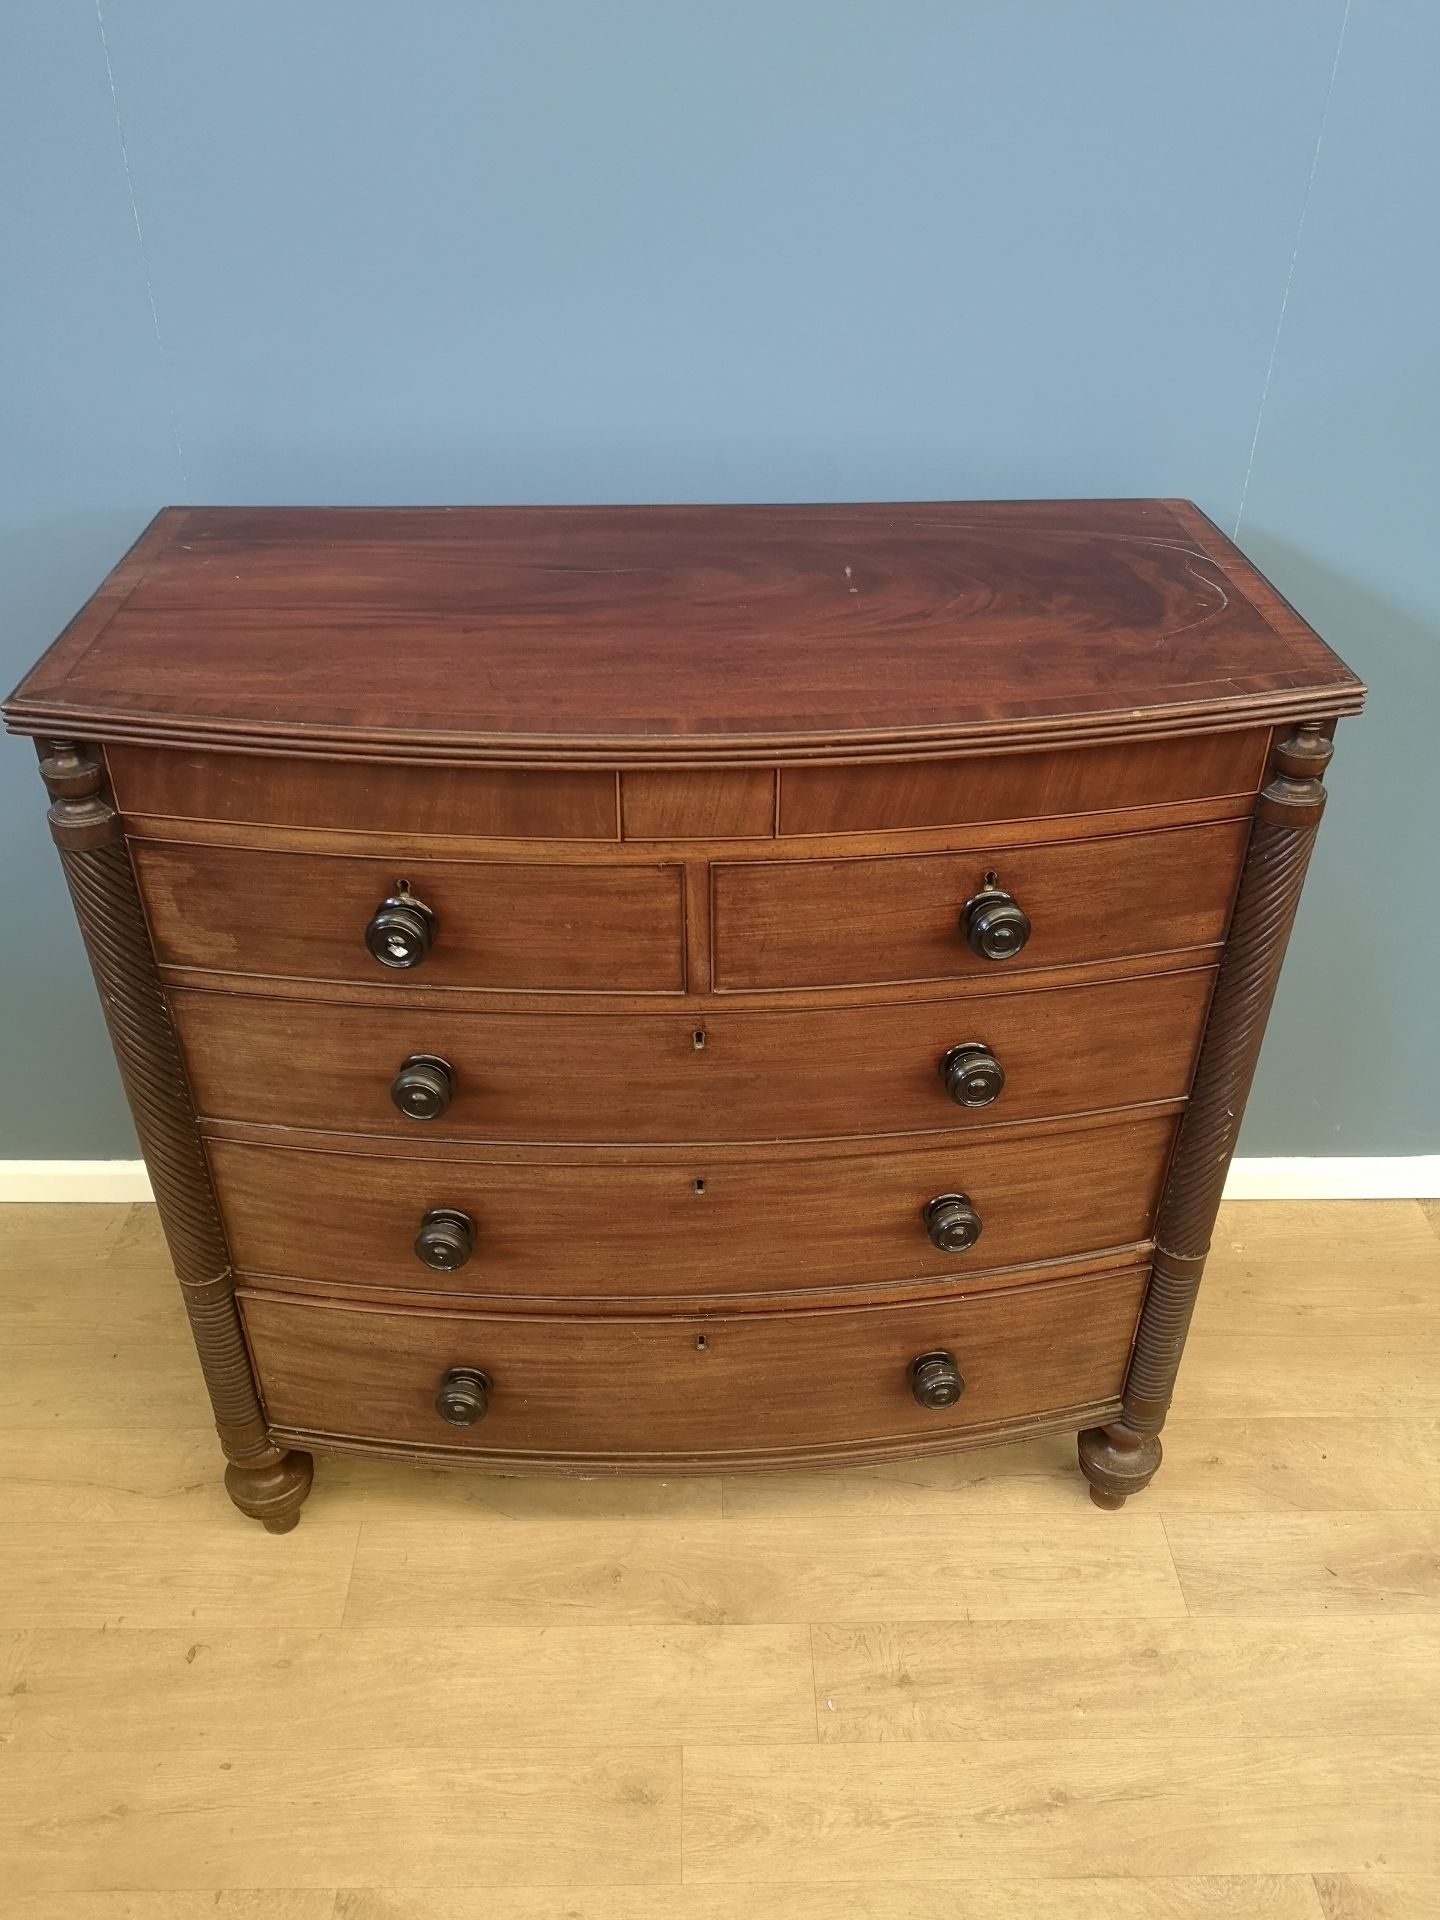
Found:
[[620, 837], [612, 774], [355, 766], [252, 753], [111, 747], [121, 812], [349, 833], [476, 833], [495, 839]]

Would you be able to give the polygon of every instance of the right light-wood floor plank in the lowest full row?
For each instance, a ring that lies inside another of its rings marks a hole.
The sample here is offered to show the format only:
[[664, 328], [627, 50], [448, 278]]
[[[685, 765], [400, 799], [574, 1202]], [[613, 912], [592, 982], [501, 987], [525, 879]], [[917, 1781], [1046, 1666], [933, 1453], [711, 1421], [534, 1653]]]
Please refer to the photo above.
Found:
[[920, 1880], [1428, 1874], [1440, 1740], [685, 1749], [687, 1880], [883, 1882], [897, 1851]]

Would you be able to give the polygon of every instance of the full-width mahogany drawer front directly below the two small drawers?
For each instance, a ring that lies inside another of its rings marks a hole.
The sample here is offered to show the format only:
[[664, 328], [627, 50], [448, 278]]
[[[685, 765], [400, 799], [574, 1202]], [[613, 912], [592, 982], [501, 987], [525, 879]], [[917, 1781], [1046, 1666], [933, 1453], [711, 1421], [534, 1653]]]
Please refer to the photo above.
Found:
[[[415, 1140], [778, 1140], [1181, 1098], [1212, 981], [1202, 968], [1048, 993], [707, 1014], [703, 1023], [198, 991], [175, 991], [171, 1008], [196, 1108], [213, 1119]], [[941, 1079], [941, 1060], [966, 1043], [987, 1046], [1004, 1069], [989, 1106], [958, 1106]], [[428, 1119], [399, 1110], [403, 1085], [392, 1096], [413, 1056], [449, 1069], [449, 1104]]]

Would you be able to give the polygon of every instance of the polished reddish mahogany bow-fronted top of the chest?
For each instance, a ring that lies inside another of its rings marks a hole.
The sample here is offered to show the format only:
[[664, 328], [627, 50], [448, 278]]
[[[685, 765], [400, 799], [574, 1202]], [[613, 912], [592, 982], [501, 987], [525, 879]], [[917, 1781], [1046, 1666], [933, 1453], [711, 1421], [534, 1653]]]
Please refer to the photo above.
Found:
[[171, 507], [6, 722], [722, 764], [1081, 743], [1361, 697], [1187, 501]]

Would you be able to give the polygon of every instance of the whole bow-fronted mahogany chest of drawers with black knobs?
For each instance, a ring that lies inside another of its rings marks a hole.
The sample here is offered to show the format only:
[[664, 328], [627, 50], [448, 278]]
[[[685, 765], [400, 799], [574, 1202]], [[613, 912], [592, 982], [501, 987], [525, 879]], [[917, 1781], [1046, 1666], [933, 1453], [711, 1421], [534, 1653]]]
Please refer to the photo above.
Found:
[[1181, 501], [173, 509], [6, 705], [236, 1505], [1160, 1428], [1363, 689]]

